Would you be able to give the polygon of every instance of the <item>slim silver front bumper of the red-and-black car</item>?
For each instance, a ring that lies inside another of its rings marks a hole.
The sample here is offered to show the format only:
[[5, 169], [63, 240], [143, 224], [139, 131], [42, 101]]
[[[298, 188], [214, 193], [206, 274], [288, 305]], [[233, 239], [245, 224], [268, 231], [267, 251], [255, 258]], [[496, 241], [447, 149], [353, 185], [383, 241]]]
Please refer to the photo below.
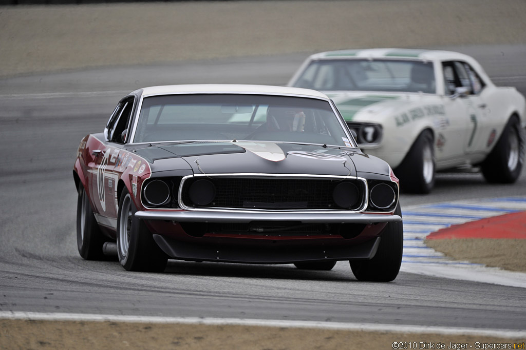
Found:
[[175, 222], [251, 222], [251, 221], [300, 221], [302, 224], [376, 224], [377, 222], [402, 221], [399, 215], [341, 212], [232, 212], [232, 211], [137, 211], [143, 220]]

